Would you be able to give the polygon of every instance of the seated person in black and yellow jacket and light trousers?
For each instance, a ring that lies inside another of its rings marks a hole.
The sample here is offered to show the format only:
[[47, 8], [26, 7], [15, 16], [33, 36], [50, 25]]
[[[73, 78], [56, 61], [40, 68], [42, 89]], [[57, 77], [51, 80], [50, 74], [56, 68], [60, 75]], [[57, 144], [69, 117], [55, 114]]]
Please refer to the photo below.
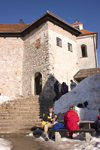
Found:
[[53, 107], [49, 108], [49, 112], [43, 114], [42, 128], [44, 128], [44, 134], [46, 136], [45, 141], [48, 141], [48, 129], [52, 128], [57, 119], [57, 115], [53, 112]]

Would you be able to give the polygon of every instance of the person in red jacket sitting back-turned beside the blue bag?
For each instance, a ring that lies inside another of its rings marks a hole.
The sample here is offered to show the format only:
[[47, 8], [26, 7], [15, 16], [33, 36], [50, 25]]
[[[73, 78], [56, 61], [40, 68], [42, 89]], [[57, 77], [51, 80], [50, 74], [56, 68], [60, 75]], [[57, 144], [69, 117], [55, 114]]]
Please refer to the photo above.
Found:
[[[67, 111], [64, 115], [64, 122], [66, 123], [66, 129], [68, 130], [77, 130], [79, 126], [77, 122], [79, 122], [78, 114], [75, 112], [75, 106], [70, 106], [69, 111]], [[72, 137], [73, 133], [69, 132], [69, 138]]]

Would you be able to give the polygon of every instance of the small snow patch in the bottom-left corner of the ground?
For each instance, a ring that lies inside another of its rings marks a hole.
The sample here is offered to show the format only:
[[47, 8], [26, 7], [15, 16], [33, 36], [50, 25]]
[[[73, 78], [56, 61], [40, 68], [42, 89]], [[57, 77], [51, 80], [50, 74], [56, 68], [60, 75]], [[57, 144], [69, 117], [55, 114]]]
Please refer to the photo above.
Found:
[[0, 150], [11, 150], [11, 142], [0, 138]]

